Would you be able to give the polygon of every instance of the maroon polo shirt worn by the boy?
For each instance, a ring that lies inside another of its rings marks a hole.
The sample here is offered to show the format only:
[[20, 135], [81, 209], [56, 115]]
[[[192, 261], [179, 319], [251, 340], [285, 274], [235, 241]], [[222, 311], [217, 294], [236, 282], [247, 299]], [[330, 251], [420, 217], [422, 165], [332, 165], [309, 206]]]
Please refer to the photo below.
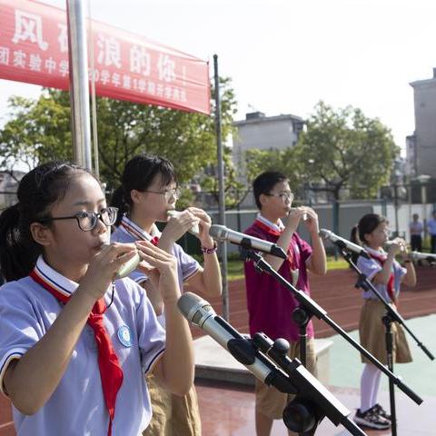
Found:
[[[256, 222], [244, 233], [270, 243], [277, 243], [279, 239], [278, 235], [266, 232], [256, 225]], [[292, 267], [300, 270], [295, 287], [310, 295], [306, 261], [312, 255], [312, 247], [303, 241], [298, 233], [293, 233], [288, 255], [292, 256]], [[253, 336], [256, 332], [263, 332], [272, 340], [284, 338], [290, 342], [298, 342], [299, 327], [292, 321], [292, 311], [298, 306], [298, 302], [292, 296], [291, 291], [284, 288], [270, 274], [256, 272], [253, 261], [244, 263], [244, 272], [250, 334]], [[289, 262], [282, 263], [279, 273], [292, 283]], [[309, 338], [313, 337], [312, 321], [307, 324], [307, 335]]]

